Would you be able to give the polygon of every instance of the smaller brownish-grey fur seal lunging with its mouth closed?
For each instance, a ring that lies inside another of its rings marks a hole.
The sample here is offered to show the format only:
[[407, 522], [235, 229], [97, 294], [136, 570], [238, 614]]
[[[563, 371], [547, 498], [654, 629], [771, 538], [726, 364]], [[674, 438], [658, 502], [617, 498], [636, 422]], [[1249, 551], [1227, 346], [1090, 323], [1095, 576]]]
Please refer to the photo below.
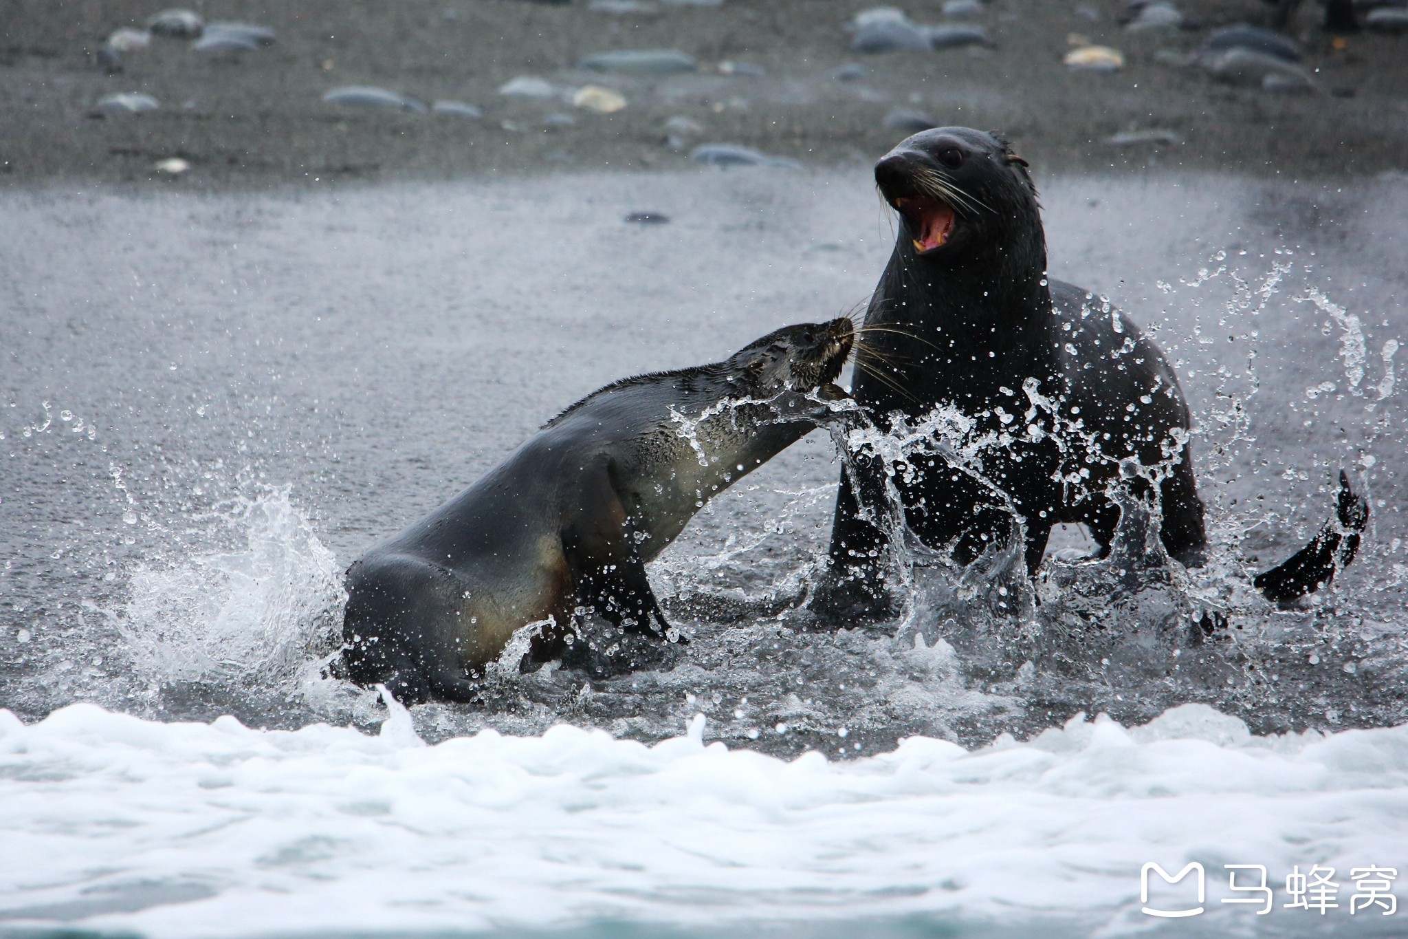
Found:
[[467, 701], [517, 629], [562, 653], [587, 617], [665, 636], [645, 574], [712, 496], [812, 431], [850, 355], [839, 318], [589, 394], [348, 569], [342, 663], [404, 701]]

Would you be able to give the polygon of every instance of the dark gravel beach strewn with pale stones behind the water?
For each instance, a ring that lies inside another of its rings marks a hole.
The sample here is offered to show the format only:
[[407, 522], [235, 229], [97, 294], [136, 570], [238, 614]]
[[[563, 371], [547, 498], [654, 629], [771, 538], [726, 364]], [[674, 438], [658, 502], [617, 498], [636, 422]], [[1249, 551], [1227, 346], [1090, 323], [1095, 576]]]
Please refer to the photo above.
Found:
[[[1186, 0], [1180, 25], [1155, 28], [1129, 25], [1122, 0], [993, 0], [964, 18], [943, 7], [904, 13], [987, 42], [857, 52], [859, 0], [206, 0], [191, 4], [204, 20], [265, 27], [273, 42], [211, 31], [199, 46], [145, 32], [153, 0], [8, 0], [0, 179], [230, 189], [669, 169], [704, 144], [863, 166], [924, 121], [998, 130], [1049, 172], [1408, 169], [1405, 35], [1336, 38], [1304, 4], [1288, 35], [1314, 87], [1297, 94], [1188, 62], [1217, 28], [1267, 25], [1256, 0]], [[1124, 68], [1063, 63], [1087, 45]], [[612, 51], [683, 55], [590, 62]], [[528, 94], [500, 92], [515, 79]], [[324, 100], [349, 86], [404, 104]], [[113, 94], [156, 107], [131, 113]]]

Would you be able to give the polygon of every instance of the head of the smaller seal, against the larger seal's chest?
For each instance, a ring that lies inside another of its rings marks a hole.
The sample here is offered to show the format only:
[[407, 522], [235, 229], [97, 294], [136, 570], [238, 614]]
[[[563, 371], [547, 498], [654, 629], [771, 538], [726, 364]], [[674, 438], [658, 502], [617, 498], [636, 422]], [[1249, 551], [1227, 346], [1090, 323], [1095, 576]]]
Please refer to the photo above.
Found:
[[821, 390], [831, 397], [845, 396], [832, 384], [850, 356], [856, 328], [849, 318], [831, 322], [801, 322], [769, 332], [729, 356], [729, 374], [755, 397], [781, 391]]

